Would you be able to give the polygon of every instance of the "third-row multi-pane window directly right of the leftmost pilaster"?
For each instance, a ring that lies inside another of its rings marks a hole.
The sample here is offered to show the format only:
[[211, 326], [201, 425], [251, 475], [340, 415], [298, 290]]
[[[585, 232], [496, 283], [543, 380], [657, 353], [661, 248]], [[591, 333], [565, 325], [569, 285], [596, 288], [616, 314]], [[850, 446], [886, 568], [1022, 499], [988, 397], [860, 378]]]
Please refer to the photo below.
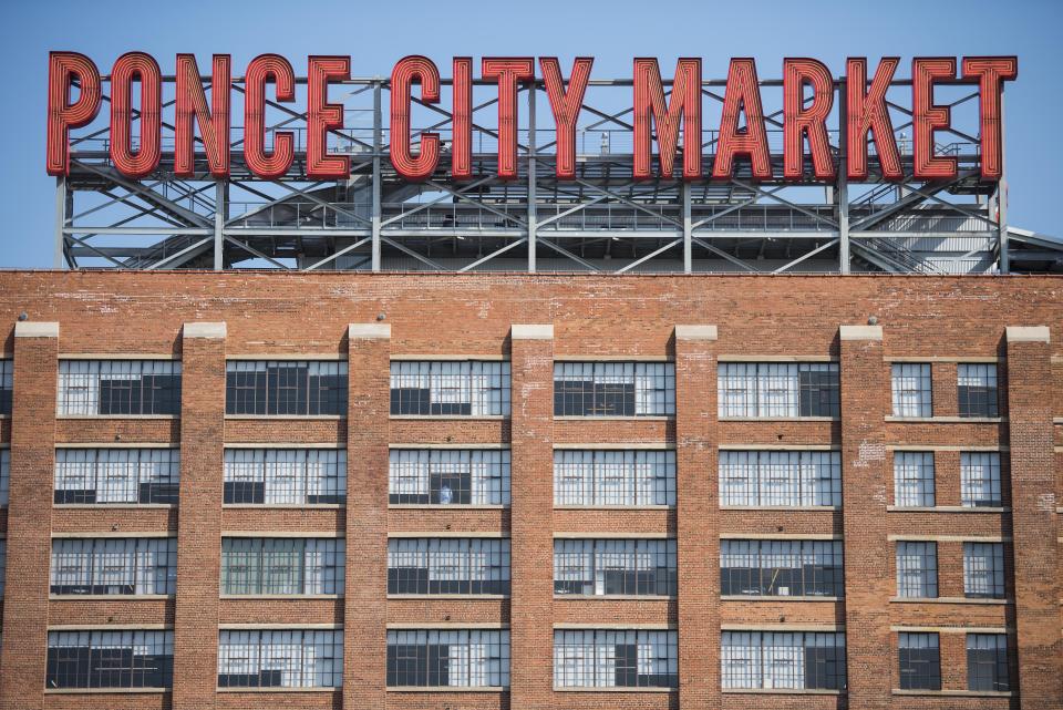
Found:
[[52, 594], [145, 595], [177, 590], [177, 539], [52, 541]]

